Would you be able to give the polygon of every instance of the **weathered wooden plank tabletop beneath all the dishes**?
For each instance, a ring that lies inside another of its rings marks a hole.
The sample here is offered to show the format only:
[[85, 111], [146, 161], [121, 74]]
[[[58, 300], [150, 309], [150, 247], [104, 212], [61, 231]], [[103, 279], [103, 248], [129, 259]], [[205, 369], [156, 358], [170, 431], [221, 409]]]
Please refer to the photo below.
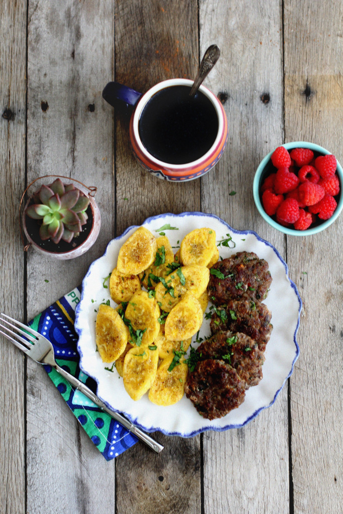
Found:
[[[160, 455], [137, 444], [110, 463], [44, 371], [2, 338], [1, 514], [342, 512], [343, 217], [317, 236], [286, 237], [252, 199], [259, 161], [283, 142], [313, 141], [343, 161], [342, 20], [341, 0], [1, 2], [3, 311], [32, 318], [80, 284], [127, 226], [183, 211], [257, 231], [303, 300], [300, 358], [273, 407], [239, 430], [157, 433]], [[192, 78], [211, 43], [222, 54], [205, 84], [225, 107], [227, 150], [203, 179], [158, 180], [134, 160], [128, 116], [114, 115], [102, 88]], [[74, 261], [23, 252], [20, 197], [50, 173], [98, 186], [101, 233]]]

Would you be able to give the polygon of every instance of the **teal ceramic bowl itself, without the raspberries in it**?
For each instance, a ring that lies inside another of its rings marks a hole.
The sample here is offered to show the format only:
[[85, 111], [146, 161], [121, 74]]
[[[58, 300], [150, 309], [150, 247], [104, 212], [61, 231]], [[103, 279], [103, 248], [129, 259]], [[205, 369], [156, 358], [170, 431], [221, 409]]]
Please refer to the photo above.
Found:
[[[325, 148], [322, 148], [322, 146], [319, 146], [318, 144], [314, 143], [308, 143], [305, 141], [295, 141], [292, 143], [285, 143], [282, 146], [284, 146], [288, 151], [293, 150], [294, 148], [310, 148], [314, 154], [315, 157], [318, 157], [318, 155], [327, 155], [331, 154], [328, 150]], [[252, 184], [252, 193], [254, 194], [254, 201], [256, 204], [256, 207], [263, 217], [263, 219], [269, 223], [272, 227], [279, 230], [280, 232], [283, 232], [284, 234], [288, 235], [311, 235], [311, 234], [317, 234], [318, 232], [321, 232], [322, 230], [329, 227], [335, 219], [339, 216], [341, 210], [343, 209], [343, 193], [342, 193], [342, 185], [343, 185], [343, 170], [340, 166], [339, 162], [337, 161], [337, 170], [336, 173], [338, 175], [339, 179], [339, 193], [337, 196], [335, 196], [335, 200], [337, 201], [337, 207], [331, 218], [326, 219], [320, 223], [318, 223], [316, 226], [310, 227], [307, 230], [295, 230], [288, 227], [283, 227], [279, 223], [275, 221], [272, 217], [268, 216], [268, 214], [265, 213], [262, 205], [262, 195], [260, 194], [261, 186], [264, 181], [264, 179], [270, 175], [270, 173], [273, 173], [275, 171], [275, 168], [273, 166], [272, 160], [270, 160], [270, 157], [272, 157], [274, 150], [272, 152], [269, 152], [268, 155], [264, 157], [264, 159], [260, 162], [259, 167], [256, 170], [255, 177], [254, 177], [254, 183]]]

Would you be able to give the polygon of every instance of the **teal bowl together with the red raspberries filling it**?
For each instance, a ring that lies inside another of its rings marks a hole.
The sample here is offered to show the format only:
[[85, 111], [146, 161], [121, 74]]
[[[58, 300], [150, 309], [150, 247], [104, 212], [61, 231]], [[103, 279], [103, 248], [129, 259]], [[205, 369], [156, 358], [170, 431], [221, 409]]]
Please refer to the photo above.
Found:
[[310, 235], [331, 225], [343, 208], [343, 170], [314, 143], [285, 143], [259, 164], [252, 186], [256, 207], [269, 225], [290, 235]]

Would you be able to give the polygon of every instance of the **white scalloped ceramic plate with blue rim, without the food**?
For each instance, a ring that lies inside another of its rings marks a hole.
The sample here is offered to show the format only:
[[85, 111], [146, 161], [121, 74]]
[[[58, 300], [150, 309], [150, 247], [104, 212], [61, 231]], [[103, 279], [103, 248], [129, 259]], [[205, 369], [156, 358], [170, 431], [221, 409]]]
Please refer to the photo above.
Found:
[[[245, 250], [254, 251], [259, 258], [268, 262], [273, 282], [264, 303], [272, 311], [274, 328], [265, 351], [263, 379], [258, 386], [251, 387], [246, 392], [245, 400], [238, 409], [234, 409], [222, 418], [209, 421], [197, 413], [186, 396], [169, 407], [154, 405], [149, 401], [147, 394], [139, 401], [134, 401], [125, 391], [123, 380], [115, 368], [113, 372], [105, 370], [105, 367], [111, 367], [111, 364], [103, 363], [99, 352], [96, 352], [96, 311], [99, 304], [107, 300], [116, 307], [110, 297], [109, 288], [104, 287], [104, 285], [108, 286], [109, 281], [104, 279], [116, 266], [120, 247], [137, 227], [129, 227], [121, 236], [112, 240], [104, 255], [89, 267], [83, 280], [81, 301], [77, 307], [75, 320], [75, 328], [79, 334], [80, 368], [97, 381], [97, 394], [107, 406], [122, 412], [130, 418], [132, 423], [147, 432], [160, 430], [168, 435], [191, 437], [205, 430], [221, 431], [242, 427], [256, 417], [262, 409], [274, 403], [286, 379], [292, 374], [294, 363], [299, 356], [299, 346], [296, 341], [302, 306], [299, 293], [295, 284], [288, 278], [287, 265], [278, 251], [255, 232], [233, 230], [222, 219], [200, 212], [161, 214], [148, 218], [143, 226], [158, 236], [159, 232], [156, 229], [166, 224], [178, 229], [165, 230], [171, 245], [175, 247], [175, 252], [179, 242], [188, 232], [194, 228], [210, 227], [215, 230], [218, 243], [226, 239], [227, 234], [232, 237], [231, 248], [222, 245], [219, 247], [222, 258], [225, 259], [232, 253]], [[200, 337], [209, 336], [209, 320], [204, 320]], [[192, 344], [197, 346], [196, 343]]]

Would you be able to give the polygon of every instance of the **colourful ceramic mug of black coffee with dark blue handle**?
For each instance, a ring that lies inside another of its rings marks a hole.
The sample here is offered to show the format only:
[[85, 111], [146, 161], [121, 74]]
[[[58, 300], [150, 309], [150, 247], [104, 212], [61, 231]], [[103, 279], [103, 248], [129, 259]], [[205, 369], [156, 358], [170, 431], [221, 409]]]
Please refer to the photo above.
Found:
[[[112, 106], [121, 100], [134, 107], [130, 120], [133, 153], [141, 166], [158, 178], [171, 181], [198, 178], [223, 155], [227, 142], [223, 106], [203, 85], [194, 100], [200, 103], [193, 104], [188, 94], [192, 84], [188, 79], [165, 80], [142, 95], [130, 87], [110, 82], [102, 92]], [[179, 93], [182, 100], [178, 99]]]

